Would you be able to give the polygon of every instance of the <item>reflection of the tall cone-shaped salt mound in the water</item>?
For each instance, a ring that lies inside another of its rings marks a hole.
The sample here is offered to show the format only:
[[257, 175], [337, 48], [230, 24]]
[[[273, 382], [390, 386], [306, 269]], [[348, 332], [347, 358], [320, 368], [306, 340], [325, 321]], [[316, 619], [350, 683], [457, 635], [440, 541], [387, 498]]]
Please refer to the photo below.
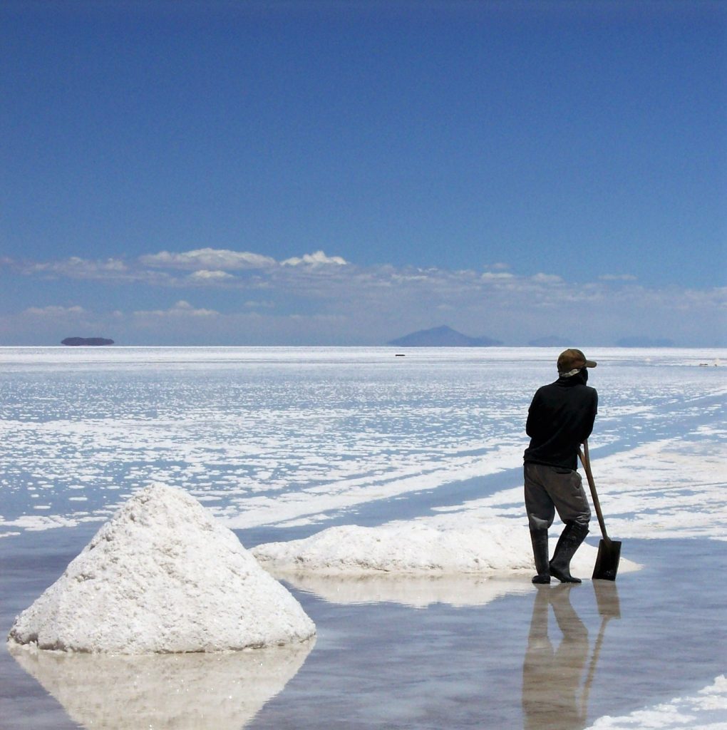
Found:
[[239, 730], [303, 665], [314, 642], [231, 653], [12, 656], [93, 730]]

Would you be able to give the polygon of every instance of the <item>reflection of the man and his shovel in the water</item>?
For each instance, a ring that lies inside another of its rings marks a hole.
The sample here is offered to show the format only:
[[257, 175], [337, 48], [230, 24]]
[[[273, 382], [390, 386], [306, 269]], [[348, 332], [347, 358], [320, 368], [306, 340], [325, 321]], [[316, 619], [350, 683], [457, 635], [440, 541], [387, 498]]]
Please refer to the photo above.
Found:
[[[588, 672], [588, 629], [570, 602], [572, 584], [536, 591], [528, 649], [523, 663], [523, 716], [526, 730], [582, 730], [588, 718], [588, 693], [596, 674], [609, 618], [620, 618], [616, 584], [594, 580], [593, 590], [601, 615], [601, 628], [593, 647]], [[577, 588], [578, 590], [578, 588]], [[549, 607], [563, 637], [557, 649], [548, 636]], [[580, 695], [580, 696], [579, 696]]]

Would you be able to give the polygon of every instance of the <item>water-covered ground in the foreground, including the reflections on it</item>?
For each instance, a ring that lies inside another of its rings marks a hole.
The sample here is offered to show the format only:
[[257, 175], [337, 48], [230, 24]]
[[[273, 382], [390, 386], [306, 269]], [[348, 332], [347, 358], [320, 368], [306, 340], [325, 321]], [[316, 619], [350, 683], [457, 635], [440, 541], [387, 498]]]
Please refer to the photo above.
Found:
[[[2, 542], [3, 636], [95, 531], [26, 531]], [[238, 534], [252, 547], [251, 534]], [[264, 537], [255, 534], [255, 542]], [[535, 588], [522, 578], [502, 583], [503, 595], [479, 605], [471, 604], [471, 591], [458, 597], [463, 588], [456, 585], [451, 596], [437, 593], [446, 602], [425, 608], [366, 602], [365, 585], [355, 603], [345, 585], [339, 602], [330, 600], [336, 591], [323, 599], [293, 587], [318, 627], [315, 644], [252, 661], [247, 653], [215, 664], [199, 657], [58, 664], [17, 661], [3, 646], [0, 724], [582, 729], [602, 715], [694, 694], [726, 672], [724, 545], [631, 540], [622, 554], [644, 568], [616, 583]]]

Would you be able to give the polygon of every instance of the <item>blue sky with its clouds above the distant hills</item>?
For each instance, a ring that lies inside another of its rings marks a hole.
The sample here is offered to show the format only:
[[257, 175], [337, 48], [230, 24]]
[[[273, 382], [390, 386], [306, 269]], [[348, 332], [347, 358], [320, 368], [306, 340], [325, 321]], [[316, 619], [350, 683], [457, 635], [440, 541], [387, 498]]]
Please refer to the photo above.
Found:
[[0, 345], [727, 346], [722, 2], [0, 8]]

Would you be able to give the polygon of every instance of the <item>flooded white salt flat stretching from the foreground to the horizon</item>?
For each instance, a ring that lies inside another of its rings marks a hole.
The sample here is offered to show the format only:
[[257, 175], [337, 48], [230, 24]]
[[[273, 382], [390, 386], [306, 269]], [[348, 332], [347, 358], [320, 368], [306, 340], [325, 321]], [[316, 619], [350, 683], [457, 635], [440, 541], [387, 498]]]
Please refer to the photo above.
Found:
[[[620, 618], [602, 632], [595, 586], [567, 592], [574, 614], [564, 625], [585, 626], [591, 658], [602, 634], [585, 714], [572, 726], [639, 727], [660, 704], [673, 704], [671, 720], [692, 712], [684, 727], [724, 723], [715, 678], [727, 669], [726, 596], [715, 576], [727, 519], [727, 351], [584, 349], [599, 361], [596, 484], [609, 530], [643, 567], [619, 576]], [[394, 354], [0, 348], [0, 629], [7, 634], [101, 521], [153, 481], [196, 496], [247, 548], [354, 524], [523, 529], [525, 412], [534, 389], [555, 378], [557, 352]], [[591, 545], [597, 531], [593, 520]], [[528, 635], [542, 618], [528, 576], [515, 585], [288, 585], [318, 641], [280, 694], [261, 694], [270, 699], [246, 727], [293, 717], [314, 727], [314, 708], [330, 726], [436, 727], [445, 716], [450, 727], [526, 726]], [[558, 596], [545, 606], [554, 652], [567, 639], [553, 624], [556, 604], [568, 613]], [[0, 682], [8, 727], [70, 722], [7, 653]], [[705, 697], [709, 710], [697, 702]]]

